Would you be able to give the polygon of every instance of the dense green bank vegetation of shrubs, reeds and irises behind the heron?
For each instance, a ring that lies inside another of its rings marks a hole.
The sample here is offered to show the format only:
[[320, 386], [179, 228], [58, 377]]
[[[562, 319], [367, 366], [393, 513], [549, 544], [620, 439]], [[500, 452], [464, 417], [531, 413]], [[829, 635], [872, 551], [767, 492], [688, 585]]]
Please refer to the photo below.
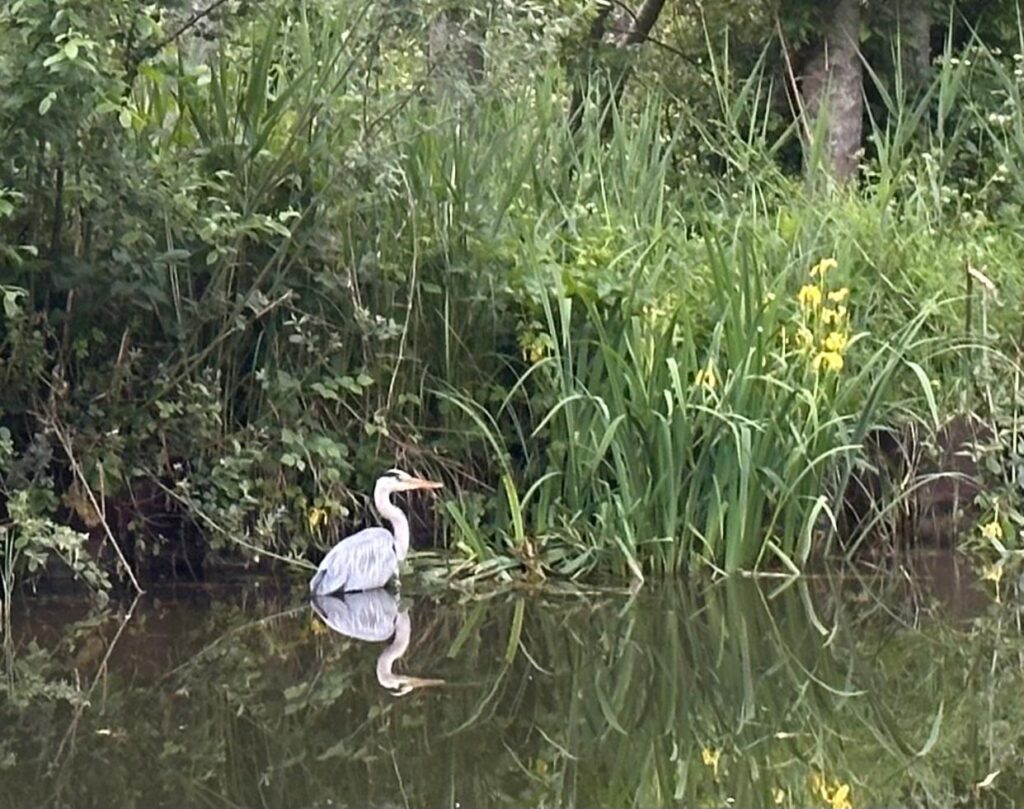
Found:
[[915, 83], [867, 6], [846, 184], [792, 113], [813, 4], [686, 5], [627, 47], [600, 3], [444, 5], [0, 10], [8, 586], [300, 559], [392, 465], [450, 484], [461, 576], [802, 567], [877, 428], [964, 411], [1009, 558], [1014, 4], [936, 11]]

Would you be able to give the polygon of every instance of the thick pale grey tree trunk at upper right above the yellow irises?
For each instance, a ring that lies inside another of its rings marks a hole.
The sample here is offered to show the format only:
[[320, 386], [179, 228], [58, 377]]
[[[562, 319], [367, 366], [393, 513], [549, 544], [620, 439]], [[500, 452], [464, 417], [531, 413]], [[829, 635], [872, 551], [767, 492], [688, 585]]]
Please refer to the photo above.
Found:
[[[824, 133], [823, 154], [840, 181], [856, 174], [863, 128], [863, 71], [858, 49], [859, 0], [828, 4], [823, 38], [803, 79], [806, 133], [814, 148], [815, 133]], [[826, 116], [818, 124], [820, 116]]]

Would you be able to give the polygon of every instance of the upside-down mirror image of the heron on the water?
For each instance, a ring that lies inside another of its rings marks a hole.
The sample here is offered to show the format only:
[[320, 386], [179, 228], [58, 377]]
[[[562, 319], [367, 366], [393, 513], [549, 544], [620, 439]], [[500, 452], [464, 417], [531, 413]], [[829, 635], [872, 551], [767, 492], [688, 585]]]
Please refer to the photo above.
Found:
[[340, 635], [390, 645], [377, 658], [377, 682], [395, 696], [416, 688], [443, 685], [443, 680], [395, 674], [395, 662], [406, 653], [413, 631], [408, 609], [398, 609], [398, 599], [387, 590], [368, 590], [343, 596], [313, 596], [313, 611]]

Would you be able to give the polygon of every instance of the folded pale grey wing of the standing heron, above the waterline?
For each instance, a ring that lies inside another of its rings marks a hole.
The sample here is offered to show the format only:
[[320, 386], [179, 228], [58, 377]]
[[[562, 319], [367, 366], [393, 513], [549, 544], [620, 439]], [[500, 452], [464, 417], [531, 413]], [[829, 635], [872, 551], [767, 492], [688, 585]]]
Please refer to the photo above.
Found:
[[398, 572], [394, 536], [387, 528], [365, 528], [324, 557], [309, 582], [313, 595], [384, 587]]

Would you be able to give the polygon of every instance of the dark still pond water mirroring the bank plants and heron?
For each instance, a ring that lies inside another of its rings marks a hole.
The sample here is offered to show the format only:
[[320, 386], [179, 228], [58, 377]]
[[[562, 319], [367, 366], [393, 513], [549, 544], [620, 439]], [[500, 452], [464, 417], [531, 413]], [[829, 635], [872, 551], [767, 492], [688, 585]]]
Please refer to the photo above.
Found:
[[0, 807], [1024, 805], [1001, 584], [23, 598]]

